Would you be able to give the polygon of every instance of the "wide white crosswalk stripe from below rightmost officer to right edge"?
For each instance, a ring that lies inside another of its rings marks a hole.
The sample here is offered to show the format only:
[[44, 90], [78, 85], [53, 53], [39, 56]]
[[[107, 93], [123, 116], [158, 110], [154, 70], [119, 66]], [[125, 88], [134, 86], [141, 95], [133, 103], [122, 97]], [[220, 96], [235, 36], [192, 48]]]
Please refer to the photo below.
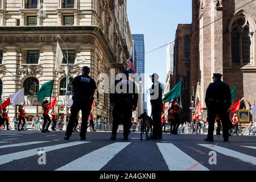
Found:
[[228, 148], [220, 147], [220, 146], [212, 146], [212, 144], [199, 144], [200, 146], [210, 148], [211, 150], [214, 150], [216, 152], [219, 152], [221, 154], [224, 154], [226, 156], [231, 156], [233, 158], [237, 158], [242, 160], [243, 162], [251, 163], [253, 165], [256, 165], [256, 158], [250, 155], [242, 154], [237, 151], [230, 150]]

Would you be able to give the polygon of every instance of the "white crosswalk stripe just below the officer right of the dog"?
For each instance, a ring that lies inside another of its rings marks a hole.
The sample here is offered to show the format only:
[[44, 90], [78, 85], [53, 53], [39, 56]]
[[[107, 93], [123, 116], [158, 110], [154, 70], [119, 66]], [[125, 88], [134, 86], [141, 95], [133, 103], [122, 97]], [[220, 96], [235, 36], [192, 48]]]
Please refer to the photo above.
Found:
[[156, 143], [170, 171], [209, 171], [172, 143]]

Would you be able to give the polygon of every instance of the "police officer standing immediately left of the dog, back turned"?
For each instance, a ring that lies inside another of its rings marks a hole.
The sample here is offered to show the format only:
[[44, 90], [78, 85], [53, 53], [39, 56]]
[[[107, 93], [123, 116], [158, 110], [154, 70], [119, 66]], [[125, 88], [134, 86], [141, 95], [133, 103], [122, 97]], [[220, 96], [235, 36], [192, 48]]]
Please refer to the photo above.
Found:
[[110, 139], [116, 139], [119, 123], [123, 123], [123, 139], [130, 133], [132, 112], [137, 108], [138, 90], [135, 83], [129, 80], [129, 71], [123, 71], [123, 78], [115, 80], [110, 90], [110, 104], [113, 108], [113, 127]]

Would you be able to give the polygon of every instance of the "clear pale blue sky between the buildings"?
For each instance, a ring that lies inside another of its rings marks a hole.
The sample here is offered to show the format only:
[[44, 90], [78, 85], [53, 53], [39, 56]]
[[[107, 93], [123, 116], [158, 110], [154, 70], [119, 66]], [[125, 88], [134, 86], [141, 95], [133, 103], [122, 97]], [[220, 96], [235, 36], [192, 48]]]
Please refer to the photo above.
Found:
[[[127, 15], [131, 34], [144, 34], [145, 52], [172, 42], [177, 24], [192, 22], [192, 0], [127, 0]], [[145, 55], [146, 89], [150, 88], [152, 73], [159, 81], [166, 80], [166, 48]], [[148, 114], [151, 113], [150, 96], [147, 95]]]

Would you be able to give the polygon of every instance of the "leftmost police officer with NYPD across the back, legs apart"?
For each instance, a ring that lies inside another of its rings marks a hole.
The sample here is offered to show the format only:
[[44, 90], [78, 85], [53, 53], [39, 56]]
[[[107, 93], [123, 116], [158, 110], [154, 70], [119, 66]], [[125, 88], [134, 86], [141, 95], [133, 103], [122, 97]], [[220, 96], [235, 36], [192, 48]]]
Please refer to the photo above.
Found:
[[97, 89], [96, 82], [89, 76], [90, 68], [82, 67], [82, 75], [76, 76], [72, 81], [73, 90], [73, 105], [71, 106], [71, 115], [65, 133], [64, 140], [68, 140], [71, 135], [77, 120], [77, 114], [82, 111], [82, 123], [80, 130], [80, 139], [86, 140], [86, 127], [88, 123], [88, 117], [93, 104], [94, 93]]

